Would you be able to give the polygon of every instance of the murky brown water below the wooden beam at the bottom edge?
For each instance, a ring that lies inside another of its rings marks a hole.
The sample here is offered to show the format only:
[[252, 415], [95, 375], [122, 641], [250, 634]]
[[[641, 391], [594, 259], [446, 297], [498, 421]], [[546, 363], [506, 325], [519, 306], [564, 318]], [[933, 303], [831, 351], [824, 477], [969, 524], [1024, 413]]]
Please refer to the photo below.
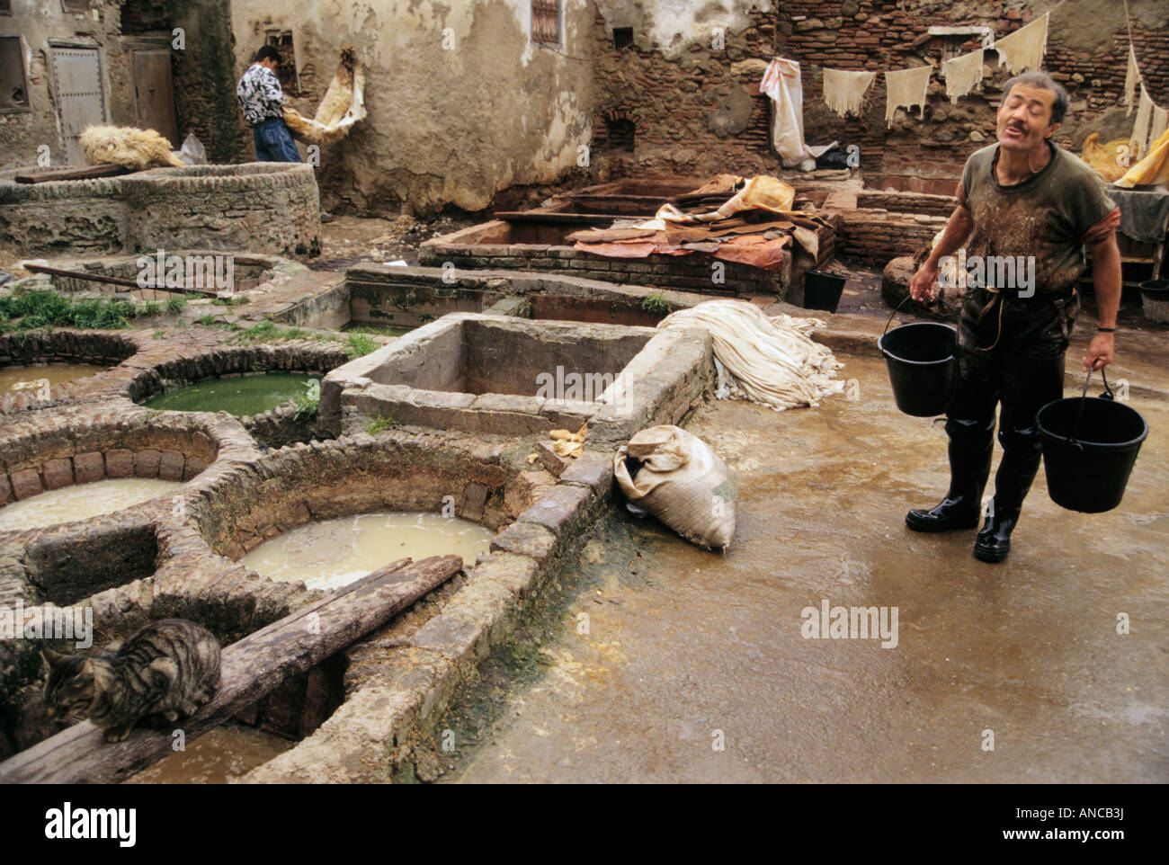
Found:
[[216, 727], [186, 750], [168, 754], [127, 784], [226, 784], [283, 754], [296, 742], [245, 727]]

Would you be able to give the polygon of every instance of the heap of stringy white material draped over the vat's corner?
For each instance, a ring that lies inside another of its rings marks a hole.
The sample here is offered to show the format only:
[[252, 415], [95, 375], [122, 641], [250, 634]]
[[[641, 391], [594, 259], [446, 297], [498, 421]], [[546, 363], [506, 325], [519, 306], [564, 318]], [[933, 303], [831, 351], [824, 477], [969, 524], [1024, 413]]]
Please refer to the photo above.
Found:
[[844, 380], [833, 378], [843, 364], [808, 337], [823, 326], [815, 318], [768, 318], [746, 300], [707, 300], [658, 323], [662, 328], [710, 332], [719, 372], [715, 396], [735, 396], [776, 411], [817, 406], [825, 396], [844, 393]]

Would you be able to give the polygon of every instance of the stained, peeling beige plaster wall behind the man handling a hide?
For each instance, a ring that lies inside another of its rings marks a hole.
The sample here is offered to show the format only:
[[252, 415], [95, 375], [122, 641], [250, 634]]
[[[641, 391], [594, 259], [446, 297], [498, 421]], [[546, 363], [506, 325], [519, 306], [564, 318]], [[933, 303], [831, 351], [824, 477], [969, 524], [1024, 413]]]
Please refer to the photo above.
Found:
[[565, 0], [561, 44], [530, 39], [527, 0], [419, 4], [233, 0], [236, 75], [269, 30], [291, 32], [302, 113], [316, 113], [352, 44], [368, 117], [320, 154], [326, 209], [433, 213], [576, 168], [589, 137], [588, 0]]

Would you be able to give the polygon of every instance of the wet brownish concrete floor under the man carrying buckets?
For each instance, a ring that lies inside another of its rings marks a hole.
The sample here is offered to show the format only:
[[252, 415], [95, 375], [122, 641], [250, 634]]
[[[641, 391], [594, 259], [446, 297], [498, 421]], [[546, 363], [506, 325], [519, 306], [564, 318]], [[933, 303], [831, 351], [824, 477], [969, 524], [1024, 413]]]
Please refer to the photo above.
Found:
[[[443, 781], [1169, 781], [1169, 402], [1130, 402], [1151, 432], [1119, 508], [1065, 511], [1040, 471], [992, 566], [974, 531], [905, 527], [945, 432], [843, 360], [855, 401], [696, 413], [739, 478], [733, 547], [600, 523], [438, 725]], [[825, 601], [895, 607], [895, 648], [804, 638]]]

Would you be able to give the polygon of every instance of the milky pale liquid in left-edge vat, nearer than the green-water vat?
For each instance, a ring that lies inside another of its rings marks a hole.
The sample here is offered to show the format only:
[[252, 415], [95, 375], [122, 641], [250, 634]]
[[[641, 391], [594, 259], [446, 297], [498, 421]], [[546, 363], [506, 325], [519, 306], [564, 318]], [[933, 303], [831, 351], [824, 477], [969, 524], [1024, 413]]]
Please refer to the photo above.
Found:
[[178, 480], [119, 478], [49, 490], [0, 507], [0, 531], [40, 528], [113, 513], [182, 486]]

